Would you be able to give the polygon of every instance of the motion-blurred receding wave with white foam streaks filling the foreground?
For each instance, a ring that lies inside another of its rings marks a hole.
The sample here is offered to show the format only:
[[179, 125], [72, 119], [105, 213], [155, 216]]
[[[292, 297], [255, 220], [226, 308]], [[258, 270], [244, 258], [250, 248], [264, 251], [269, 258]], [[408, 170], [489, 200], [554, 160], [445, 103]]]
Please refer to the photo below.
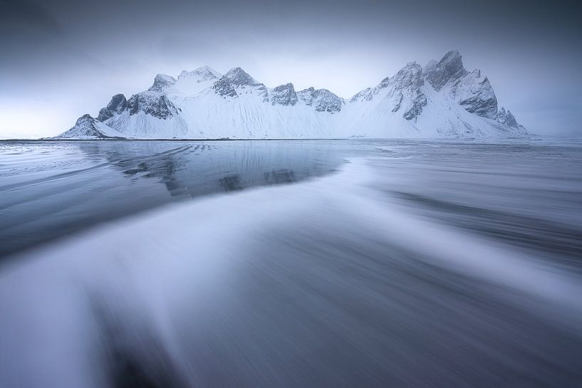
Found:
[[579, 184], [449, 153], [351, 159], [21, 253], [0, 272], [1, 384], [578, 387], [580, 263], [495, 234], [576, 236], [579, 212], [541, 204]]

